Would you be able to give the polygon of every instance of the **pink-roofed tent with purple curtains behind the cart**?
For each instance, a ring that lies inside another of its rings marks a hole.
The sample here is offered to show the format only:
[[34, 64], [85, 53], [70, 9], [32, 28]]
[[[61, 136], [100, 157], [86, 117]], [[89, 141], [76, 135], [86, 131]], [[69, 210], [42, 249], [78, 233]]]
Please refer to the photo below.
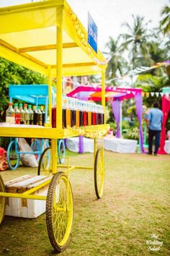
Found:
[[[79, 98], [84, 101], [101, 101], [102, 88], [91, 86], [79, 86], [68, 93], [68, 97]], [[130, 98], [135, 98], [136, 114], [139, 120], [140, 129], [140, 149], [144, 153], [143, 147], [143, 129], [142, 129], [142, 89], [141, 88], [105, 88], [106, 101], [112, 101], [112, 111], [117, 123], [116, 137], [121, 135], [122, 121], [122, 101]]]

